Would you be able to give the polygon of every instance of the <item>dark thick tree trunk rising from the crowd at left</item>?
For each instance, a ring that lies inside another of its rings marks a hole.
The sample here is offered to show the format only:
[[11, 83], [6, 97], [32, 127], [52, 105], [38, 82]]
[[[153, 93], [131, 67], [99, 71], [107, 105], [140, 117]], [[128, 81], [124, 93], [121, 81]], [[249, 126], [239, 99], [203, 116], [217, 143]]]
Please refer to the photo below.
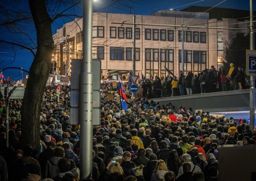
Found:
[[27, 87], [21, 106], [21, 142], [31, 145], [33, 149], [40, 146], [40, 120], [42, 96], [51, 67], [52, 38], [51, 18], [46, 11], [45, 0], [29, 0], [30, 10], [37, 33], [36, 56], [29, 69]]

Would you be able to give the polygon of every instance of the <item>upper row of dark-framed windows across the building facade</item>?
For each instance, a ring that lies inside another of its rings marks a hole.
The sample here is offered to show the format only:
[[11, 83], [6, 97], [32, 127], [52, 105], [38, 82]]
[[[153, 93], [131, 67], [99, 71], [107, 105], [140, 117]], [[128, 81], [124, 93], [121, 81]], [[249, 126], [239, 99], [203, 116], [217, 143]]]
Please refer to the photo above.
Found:
[[[179, 41], [182, 41], [182, 31], [178, 31]], [[76, 34], [77, 43], [82, 41], [81, 32]], [[92, 27], [93, 38], [104, 38], [104, 26], [93, 26]], [[200, 42], [206, 43], [205, 32], [191, 32], [184, 31], [184, 41], [186, 42]], [[193, 38], [192, 38], [193, 37]], [[132, 39], [132, 28], [124, 27], [110, 27], [109, 38], [121, 38], [121, 39]], [[135, 29], [135, 38], [140, 39], [140, 28]], [[173, 30], [159, 30], [159, 29], [148, 29], [145, 28], [145, 40], [161, 40], [161, 41], [174, 41]]]

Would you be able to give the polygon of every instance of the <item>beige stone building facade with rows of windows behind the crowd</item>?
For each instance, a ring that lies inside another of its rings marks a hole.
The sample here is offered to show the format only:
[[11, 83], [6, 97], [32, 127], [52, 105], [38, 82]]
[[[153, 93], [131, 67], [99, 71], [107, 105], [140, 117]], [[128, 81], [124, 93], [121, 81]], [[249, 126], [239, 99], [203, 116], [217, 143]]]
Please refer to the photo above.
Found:
[[[114, 24], [132, 23], [132, 19], [130, 14], [93, 13], [92, 58], [101, 60], [102, 73], [125, 74], [132, 69], [133, 25]], [[166, 66], [178, 76], [181, 70], [181, 27], [164, 25], [181, 25], [181, 21], [180, 17], [136, 15], [136, 24], [142, 24], [136, 25], [136, 73], [137, 70], [142, 71], [146, 78], [150, 75], [167, 76]], [[82, 19], [69, 22], [53, 35], [55, 48], [52, 60], [57, 63], [56, 71], [60, 75], [65, 75], [66, 61], [63, 29], [69, 35], [67, 56], [70, 65], [71, 59], [82, 59], [82, 22]], [[184, 18], [183, 22], [187, 26], [233, 28], [234, 24], [241, 23], [240, 28], [248, 27], [248, 23], [225, 18], [222, 21]], [[198, 74], [212, 65], [219, 67], [228, 31], [184, 27], [185, 74], [191, 70]], [[70, 67], [68, 72], [70, 75]]]

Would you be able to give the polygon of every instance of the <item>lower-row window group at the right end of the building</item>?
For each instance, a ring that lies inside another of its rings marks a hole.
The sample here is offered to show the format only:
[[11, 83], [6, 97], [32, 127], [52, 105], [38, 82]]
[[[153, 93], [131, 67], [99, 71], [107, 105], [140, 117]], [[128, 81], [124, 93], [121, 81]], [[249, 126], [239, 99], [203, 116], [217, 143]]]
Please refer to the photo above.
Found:
[[[192, 61], [192, 51], [184, 50], [184, 62], [190, 63]], [[179, 50], [179, 62], [181, 62], [181, 50]], [[193, 62], [194, 63], [205, 63], [206, 62], [206, 51], [193, 51]]]

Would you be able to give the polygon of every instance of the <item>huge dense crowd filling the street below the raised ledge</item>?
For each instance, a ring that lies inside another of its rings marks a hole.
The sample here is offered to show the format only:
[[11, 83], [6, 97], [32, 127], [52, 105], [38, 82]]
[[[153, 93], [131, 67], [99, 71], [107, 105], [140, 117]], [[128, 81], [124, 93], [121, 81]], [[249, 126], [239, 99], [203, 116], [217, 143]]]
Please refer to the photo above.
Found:
[[[246, 120], [215, 118], [206, 110], [177, 109], [171, 103], [160, 106], [148, 101], [146, 94], [131, 100], [127, 87], [124, 83], [128, 98], [124, 111], [116, 100], [118, 87], [102, 84], [100, 125], [93, 126], [92, 174], [84, 180], [215, 181], [220, 147], [256, 143], [256, 130], [251, 131]], [[162, 94], [154, 90], [156, 95]], [[108, 100], [108, 94], [114, 99]], [[80, 126], [69, 122], [69, 95], [69, 86], [61, 86], [58, 102], [56, 86], [46, 87], [38, 119], [39, 151], [20, 144], [25, 121], [20, 116], [22, 100], [11, 99], [9, 112], [4, 100], [0, 102], [0, 180], [79, 180], [83, 140], [79, 139]], [[9, 127], [5, 127], [6, 114]]]

